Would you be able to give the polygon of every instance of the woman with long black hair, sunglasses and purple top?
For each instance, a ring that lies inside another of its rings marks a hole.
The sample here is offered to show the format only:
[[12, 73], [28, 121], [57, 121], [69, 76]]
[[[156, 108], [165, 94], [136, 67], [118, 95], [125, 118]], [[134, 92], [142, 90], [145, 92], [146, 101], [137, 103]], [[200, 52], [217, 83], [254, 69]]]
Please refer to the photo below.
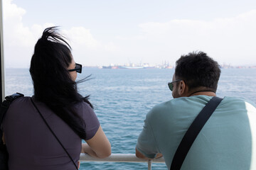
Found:
[[111, 154], [88, 96], [77, 91], [82, 65], [56, 31], [46, 28], [36, 42], [30, 67], [34, 96], [16, 99], [4, 118], [10, 170], [77, 169], [80, 152], [98, 158]]

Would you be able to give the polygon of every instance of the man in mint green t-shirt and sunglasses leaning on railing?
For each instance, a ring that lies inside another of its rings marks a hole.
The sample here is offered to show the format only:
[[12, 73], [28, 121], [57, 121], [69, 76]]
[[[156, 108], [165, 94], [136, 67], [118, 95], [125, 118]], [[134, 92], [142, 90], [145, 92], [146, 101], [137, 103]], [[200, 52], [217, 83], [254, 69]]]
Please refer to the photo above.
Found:
[[[217, 62], [204, 52], [176, 61], [169, 83], [174, 99], [146, 115], [136, 147], [137, 157], [172, 159], [189, 126], [215, 95], [220, 77]], [[193, 142], [181, 169], [256, 169], [256, 108], [242, 98], [225, 97]]]

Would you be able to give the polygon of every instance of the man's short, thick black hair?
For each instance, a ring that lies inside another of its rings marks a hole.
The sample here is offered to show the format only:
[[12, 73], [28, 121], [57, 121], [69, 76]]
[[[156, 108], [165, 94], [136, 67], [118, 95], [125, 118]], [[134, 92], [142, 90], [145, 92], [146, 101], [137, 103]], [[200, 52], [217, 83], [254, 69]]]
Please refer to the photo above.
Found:
[[188, 89], [204, 86], [216, 91], [220, 78], [220, 65], [205, 52], [190, 52], [176, 61], [175, 77], [183, 79]]

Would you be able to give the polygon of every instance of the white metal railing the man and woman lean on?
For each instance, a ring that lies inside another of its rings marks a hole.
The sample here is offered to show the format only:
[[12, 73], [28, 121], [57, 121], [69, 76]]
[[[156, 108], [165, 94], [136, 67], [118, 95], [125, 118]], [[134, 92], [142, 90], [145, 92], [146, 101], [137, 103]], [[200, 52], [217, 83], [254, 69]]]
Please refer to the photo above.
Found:
[[80, 162], [147, 162], [148, 170], [151, 170], [151, 163], [164, 163], [164, 157], [145, 160], [137, 158], [135, 154], [111, 154], [110, 157], [100, 159], [90, 157], [88, 154], [80, 154]]

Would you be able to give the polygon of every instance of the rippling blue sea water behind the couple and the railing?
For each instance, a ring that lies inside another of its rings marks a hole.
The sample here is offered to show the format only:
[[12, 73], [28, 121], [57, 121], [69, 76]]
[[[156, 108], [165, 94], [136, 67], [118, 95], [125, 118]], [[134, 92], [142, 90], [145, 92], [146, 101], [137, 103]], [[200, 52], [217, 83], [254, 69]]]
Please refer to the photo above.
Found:
[[[222, 69], [217, 96], [235, 96], [256, 103], [256, 69]], [[33, 95], [28, 69], [6, 69], [6, 95]], [[113, 154], [134, 154], [146, 113], [158, 103], [172, 99], [168, 82], [174, 69], [83, 69], [78, 84], [90, 95], [95, 113], [112, 145]], [[147, 169], [147, 163], [82, 162], [80, 169]], [[152, 169], [167, 169], [153, 163]]]

